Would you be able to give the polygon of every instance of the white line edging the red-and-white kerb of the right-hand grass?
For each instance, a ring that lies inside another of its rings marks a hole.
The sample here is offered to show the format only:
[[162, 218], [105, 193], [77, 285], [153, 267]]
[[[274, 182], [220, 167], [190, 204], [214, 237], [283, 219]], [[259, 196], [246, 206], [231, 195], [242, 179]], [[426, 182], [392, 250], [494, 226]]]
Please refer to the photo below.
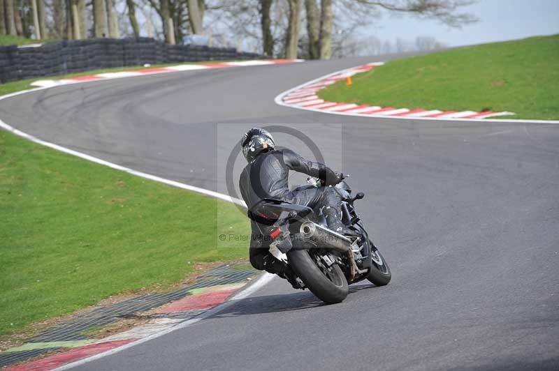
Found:
[[[374, 62], [374, 63], [381, 63], [381, 62]], [[367, 63], [365, 63], [367, 64]], [[369, 63], [370, 64], [370, 63]], [[296, 106], [296, 105], [289, 105], [283, 102], [283, 98], [284, 96], [286, 96], [289, 93], [292, 93], [293, 91], [297, 91], [299, 89], [303, 89], [305, 88], [305, 86], [314, 84], [316, 82], [319, 82], [321, 79], [327, 79], [328, 77], [332, 77], [334, 75], [338, 75], [341, 73], [344, 73], [344, 71], [346, 70], [351, 70], [351, 68], [355, 68], [358, 66], [354, 66], [354, 67], [350, 67], [350, 68], [344, 68], [342, 70], [337, 70], [333, 73], [328, 73], [328, 75], [324, 75], [321, 77], [317, 77], [316, 79], [312, 79], [310, 81], [307, 82], [303, 82], [303, 84], [299, 84], [291, 89], [287, 89], [286, 91], [283, 91], [282, 93], [279, 93], [275, 98], [274, 98], [274, 102], [277, 105], [281, 105], [284, 107], [289, 107], [289, 108], [294, 108], [294, 109], [305, 109], [306, 111], [314, 111], [314, 112], [321, 112], [323, 114], [340, 114], [342, 116], [360, 116], [360, 117], [374, 117], [374, 118], [378, 118], [378, 119], [393, 119], [393, 120], [417, 120], [417, 121], [465, 121], [465, 122], [494, 122], [494, 123], [550, 123], [550, 124], [556, 124], [559, 123], [559, 120], [524, 120], [524, 119], [444, 119], [444, 118], [438, 118], [438, 117], [407, 117], [407, 116], [383, 116], [382, 114], [354, 114], [351, 112], [336, 112], [336, 111], [326, 111], [324, 109], [314, 109], [314, 108], [306, 108], [306, 107], [300, 107], [300, 106]], [[481, 112], [480, 112], [481, 113]]]

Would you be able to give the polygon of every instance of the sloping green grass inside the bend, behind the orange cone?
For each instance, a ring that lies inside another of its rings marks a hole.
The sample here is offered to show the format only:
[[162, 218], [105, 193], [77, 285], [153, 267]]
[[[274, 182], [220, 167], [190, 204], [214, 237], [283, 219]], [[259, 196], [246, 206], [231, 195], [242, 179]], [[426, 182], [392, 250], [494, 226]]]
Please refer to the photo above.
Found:
[[559, 119], [559, 35], [463, 47], [390, 61], [319, 91], [333, 102], [515, 112]]

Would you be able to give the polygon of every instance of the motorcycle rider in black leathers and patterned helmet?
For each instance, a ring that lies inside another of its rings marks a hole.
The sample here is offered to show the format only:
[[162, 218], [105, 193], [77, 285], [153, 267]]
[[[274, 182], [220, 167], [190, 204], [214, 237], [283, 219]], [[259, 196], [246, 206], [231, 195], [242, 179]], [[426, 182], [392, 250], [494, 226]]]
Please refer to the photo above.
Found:
[[[248, 165], [240, 175], [239, 188], [249, 215], [252, 207], [262, 199], [277, 199], [311, 209], [322, 208], [329, 229], [340, 234], [352, 233], [340, 220], [342, 197], [330, 186], [342, 181], [341, 174], [320, 162], [306, 160], [290, 149], [276, 149], [270, 132], [261, 128], [252, 128], [245, 133], [241, 139], [241, 150]], [[291, 191], [288, 184], [289, 170], [318, 177], [324, 185]], [[269, 241], [264, 241], [254, 220], [251, 220], [251, 227], [249, 257], [252, 266], [286, 278], [293, 287], [299, 288], [289, 266], [270, 253]]]

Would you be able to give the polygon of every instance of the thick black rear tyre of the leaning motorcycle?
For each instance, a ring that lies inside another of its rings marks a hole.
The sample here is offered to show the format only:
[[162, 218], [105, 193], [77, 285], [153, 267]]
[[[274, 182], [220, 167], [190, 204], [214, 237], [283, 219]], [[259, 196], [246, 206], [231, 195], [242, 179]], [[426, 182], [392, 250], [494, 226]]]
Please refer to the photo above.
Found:
[[287, 261], [312, 294], [324, 303], [341, 303], [349, 294], [347, 280], [337, 264], [319, 268], [307, 249], [290, 250], [287, 252]]

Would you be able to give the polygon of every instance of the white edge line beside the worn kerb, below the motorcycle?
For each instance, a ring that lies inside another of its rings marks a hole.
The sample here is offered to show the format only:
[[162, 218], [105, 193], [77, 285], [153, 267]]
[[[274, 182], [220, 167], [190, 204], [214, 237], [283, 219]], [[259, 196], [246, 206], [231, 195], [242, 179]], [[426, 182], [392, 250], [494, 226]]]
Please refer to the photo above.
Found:
[[239, 301], [243, 298], [246, 298], [247, 296], [249, 296], [251, 294], [254, 294], [254, 292], [258, 291], [259, 289], [261, 289], [262, 287], [267, 285], [271, 280], [273, 280], [274, 277], [275, 277], [275, 275], [270, 274], [268, 272], [265, 272], [258, 278], [258, 280], [254, 281], [254, 283], [252, 285], [249, 285], [245, 289], [241, 289], [241, 291], [238, 294], [235, 294], [234, 296], [232, 296], [230, 299], [228, 299], [228, 301], [225, 301], [224, 303], [217, 305], [217, 307], [214, 307], [210, 310], [207, 310], [206, 312], [203, 312], [201, 315], [198, 315], [198, 317], [196, 317], [196, 318], [187, 319], [184, 322], [180, 322], [179, 324], [171, 326], [170, 328], [166, 328], [165, 330], [159, 331], [158, 333], [154, 333], [154, 334], [149, 335], [145, 338], [141, 338], [141, 339], [135, 340], [133, 342], [129, 342], [126, 345], [122, 345], [122, 347], [117, 347], [115, 349], [110, 349], [108, 351], [103, 351], [102, 353], [95, 354], [94, 356], [90, 356], [90, 357], [87, 357], [87, 358], [82, 358], [79, 361], [75, 361], [75, 362], [72, 362], [72, 363], [67, 363], [66, 365], [60, 366], [59, 368], [55, 368], [53, 371], [68, 370], [70, 368], [74, 368], [74, 367], [77, 367], [79, 365], [83, 365], [84, 363], [88, 363], [88, 362], [91, 362], [91, 361], [96, 361], [99, 358], [103, 358], [103, 357], [106, 357], [106, 356], [110, 356], [112, 354], [116, 354], [119, 351], [123, 351], [124, 349], [128, 349], [128, 348], [134, 347], [136, 345], [140, 345], [144, 342], [148, 342], [150, 340], [159, 338], [159, 337], [161, 337], [163, 335], [166, 335], [168, 333], [172, 333], [173, 331], [179, 330], [180, 328], [185, 328], [187, 326], [190, 326], [191, 324], [196, 324], [197, 322], [202, 321], [203, 319], [207, 319], [209, 317], [212, 317], [213, 315], [216, 315], [217, 313], [221, 312], [222, 310], [230, 307], [231, 305], [235, 304], [236, 301]]

